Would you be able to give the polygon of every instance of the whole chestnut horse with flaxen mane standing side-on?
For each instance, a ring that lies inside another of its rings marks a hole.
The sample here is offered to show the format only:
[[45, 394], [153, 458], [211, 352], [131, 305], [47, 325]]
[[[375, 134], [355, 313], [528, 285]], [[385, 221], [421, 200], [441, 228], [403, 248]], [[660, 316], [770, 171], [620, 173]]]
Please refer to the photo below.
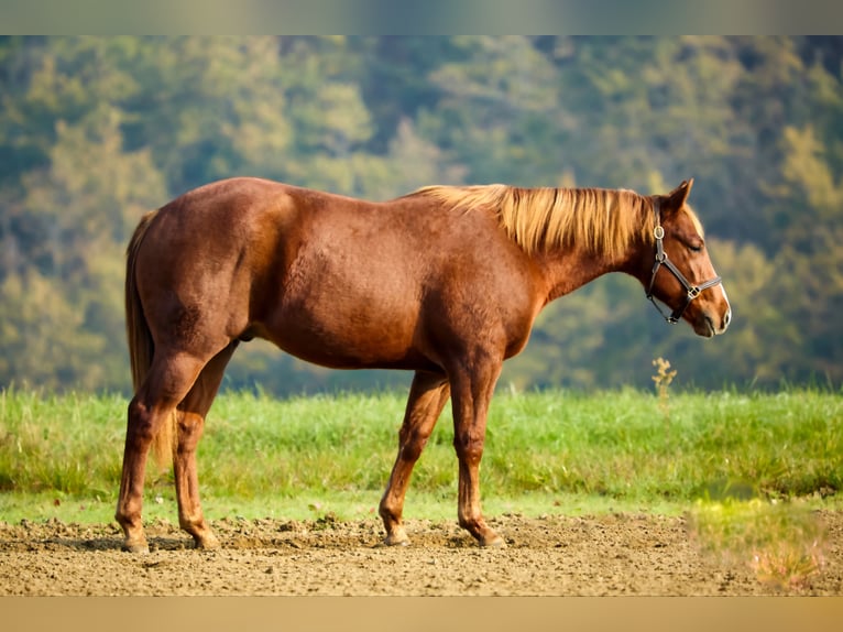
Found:
[[[149, 551], [141, 516], [151, 449], [171, 460], [179, 526], [219, 541], [199, 501], [196, 447], [237, 347], [255, 337], [336, 369], [414, 371], [379, 513], [384, 543], [409, 542], [413, 467], [448, 400], [458, 519], [481, 546], [504, 540], [481, 511], [479, 465], [502, 363], [547, 304], [609, 272], [710, 338], [732, 310], [687, 204], [628, 189], [428, 186], [388, 201], [237, 177], [189, 190], [138, 225], [127, 251], [134, 384], [116, 520]], [[659, 307], [659, 310], [661, 308]]]

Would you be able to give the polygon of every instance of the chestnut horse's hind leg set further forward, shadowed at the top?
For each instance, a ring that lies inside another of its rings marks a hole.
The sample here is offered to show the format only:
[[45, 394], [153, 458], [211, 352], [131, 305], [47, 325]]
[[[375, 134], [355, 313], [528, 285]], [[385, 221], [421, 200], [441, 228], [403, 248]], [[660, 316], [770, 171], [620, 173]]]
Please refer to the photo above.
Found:
[[205, 521], [199, 502], [196, 446], [205, 428], [205, 415], [217, 395], [226, 366], [237, 345], [237, 341], [231, 342], [205, 366], [190, 392], [178, 405], [178, 437], [173, 460], [178, 524], [193, 535], [197, 548], [219, 547], [219, 541]]

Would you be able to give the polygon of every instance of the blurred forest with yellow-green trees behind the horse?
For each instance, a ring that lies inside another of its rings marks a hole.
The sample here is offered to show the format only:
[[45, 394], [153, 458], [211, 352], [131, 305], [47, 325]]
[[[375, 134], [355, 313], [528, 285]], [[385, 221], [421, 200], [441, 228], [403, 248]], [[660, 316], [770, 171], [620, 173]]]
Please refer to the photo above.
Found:
[[[704, 341], [607, 275], [551, 304], [513, 389], [843, 383], [843, 37], [0, 37], [0, 390], [130, 389], [122, 284], [147, 209], [263, 176], [665, 193], [694, 178], [734, 322]], [[260, 341], [225, 385], [408, 383]]]

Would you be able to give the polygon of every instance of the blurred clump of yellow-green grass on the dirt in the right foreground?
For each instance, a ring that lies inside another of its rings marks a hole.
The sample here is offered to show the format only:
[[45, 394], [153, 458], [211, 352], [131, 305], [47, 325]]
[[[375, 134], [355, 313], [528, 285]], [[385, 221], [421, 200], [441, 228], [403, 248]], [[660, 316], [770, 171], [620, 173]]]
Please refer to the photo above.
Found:
[[823, 566], [822, 524], [797, 503], [699, 501], [690, 524], [703, 551], [745, 564], [767, 585], [804, 589]]

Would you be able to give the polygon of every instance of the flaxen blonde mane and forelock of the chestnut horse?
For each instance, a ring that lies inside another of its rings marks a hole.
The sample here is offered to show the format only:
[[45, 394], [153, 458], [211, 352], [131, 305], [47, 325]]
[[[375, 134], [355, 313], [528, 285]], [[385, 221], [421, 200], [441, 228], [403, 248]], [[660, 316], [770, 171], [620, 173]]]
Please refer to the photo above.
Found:
[[[417, 194], [434, 197], [456, 210], [486, 209], [529, 253], [582, 246], [616, 259], [635, 240], [653, 241], [653, 204], [627, 189], [429, 186]], [[699, 220], [690, 211], [694, 225]]]

